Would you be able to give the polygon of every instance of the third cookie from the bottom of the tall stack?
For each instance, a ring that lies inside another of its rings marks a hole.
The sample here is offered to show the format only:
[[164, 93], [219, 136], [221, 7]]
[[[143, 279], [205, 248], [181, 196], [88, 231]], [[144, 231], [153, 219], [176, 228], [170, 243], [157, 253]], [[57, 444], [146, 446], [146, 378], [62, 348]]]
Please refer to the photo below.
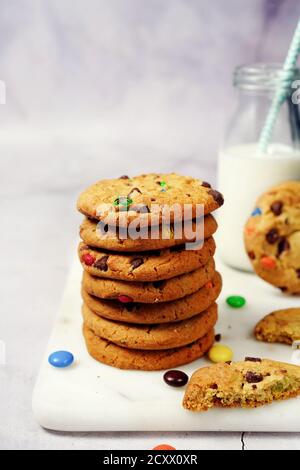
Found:
[[124, 304], [117, 300], [103, 300], [90, 295], [82, 289], [82, 298], [86, 305], [97, 315], [109, 320], [137, 324], [168, 323], [186, 320], [206, 310], [217, 300], [222, 289], [222, 278], [215, 273], [194, 294], [171, 302], [157, 304]]

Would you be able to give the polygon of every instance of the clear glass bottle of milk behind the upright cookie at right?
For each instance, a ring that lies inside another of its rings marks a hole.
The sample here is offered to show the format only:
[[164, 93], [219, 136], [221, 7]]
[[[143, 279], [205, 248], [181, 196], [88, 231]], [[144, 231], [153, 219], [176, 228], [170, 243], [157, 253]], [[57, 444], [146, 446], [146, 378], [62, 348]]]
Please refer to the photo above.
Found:
[[[218, 160], [218, 189], [225, 204], [219, 212], [218, 251], [222, 260], [251, 270], [243, 228], [264, 191], [287, 180], [300, 179], [299, 107], [291, 96], [283, 103], [266, 153], [258, 141], [281, 76], [280, 65], [254, 64], [234, 72], [236, 102]], [[299, 79], [294, 71], [291, 80]]]

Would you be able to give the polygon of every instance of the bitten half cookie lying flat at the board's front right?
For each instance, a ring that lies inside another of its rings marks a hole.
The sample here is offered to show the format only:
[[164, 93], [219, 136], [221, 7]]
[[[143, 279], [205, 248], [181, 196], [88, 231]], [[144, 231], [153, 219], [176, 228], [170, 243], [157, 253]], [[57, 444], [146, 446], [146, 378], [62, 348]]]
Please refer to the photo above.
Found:
[[192, 375], [183, 406], [191, 411], [213, 407], [256, 408], [300, 394], [300, 367], [269, 359], [219, 363]]

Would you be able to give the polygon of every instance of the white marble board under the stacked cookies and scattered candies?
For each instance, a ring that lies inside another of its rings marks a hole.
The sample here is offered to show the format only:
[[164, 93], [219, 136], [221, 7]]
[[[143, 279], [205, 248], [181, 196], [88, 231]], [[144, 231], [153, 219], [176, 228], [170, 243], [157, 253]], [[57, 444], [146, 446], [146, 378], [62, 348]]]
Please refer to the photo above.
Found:
[[[259, 356], [290, 362], [291, 347], [259, 343], [252, 331], [264, 314], [297, 306], [297, 299], [282, 295], [254, 274], [217, 264], [224, 281], [216, 327], [222, 343], [232, 347], [236, 360]], [[194, 414], [181, 406], [184, 390], [168, 387], [163, 372], [122, 371], [93, 360], [81, 334], [80, 279], [76, 262], [34, 390], [33, 411], [41, 426], [59, 431], [300, 431], [300, 398], [254, 410]], [[225, 299], [233, 294], [245, 296], [246, 307], [229, 308]], [[48, 364], [48, 355], [61, 349], [75, 356], [67, 369]], [[208, 363], [204, 358], [180, 369], [191, 375]]]

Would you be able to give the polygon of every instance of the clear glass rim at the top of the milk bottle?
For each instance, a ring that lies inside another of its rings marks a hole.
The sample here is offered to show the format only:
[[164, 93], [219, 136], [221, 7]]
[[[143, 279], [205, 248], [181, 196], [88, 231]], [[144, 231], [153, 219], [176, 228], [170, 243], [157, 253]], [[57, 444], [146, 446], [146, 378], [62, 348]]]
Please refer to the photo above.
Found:
[[298, 67], [283, 71], [281, 63], [252, 63], [239, 65], [234, 70], [235, 87], [249, 91], [274, 91], [278, 86], [290, 87], [293, 81], [300, 79]]

